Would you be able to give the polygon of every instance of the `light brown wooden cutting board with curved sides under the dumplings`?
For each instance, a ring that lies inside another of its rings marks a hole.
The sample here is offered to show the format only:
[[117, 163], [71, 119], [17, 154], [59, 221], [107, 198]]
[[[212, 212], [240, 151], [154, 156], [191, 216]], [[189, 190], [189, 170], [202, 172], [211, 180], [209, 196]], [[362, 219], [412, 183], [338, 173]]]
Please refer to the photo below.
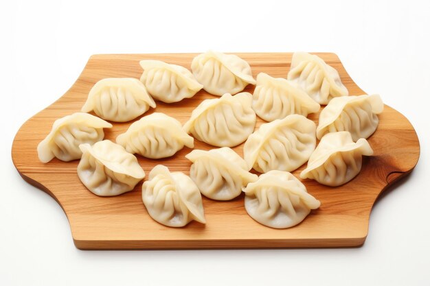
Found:
[[[254, 78], [264, 72], [285, 78], [290, 69], [292, 53], [237, 53], [251, 65]], [[349, 77], [334, 53], [317, 53], [341, 75], [350, 95], [364, 94]], [[102, 78], [139, 78], [139, 60], [163, 60], [190, 69], [196, 54], [113, 54], [91, 56], [84, 71], [69, 91], [54, 104], [30, 118], [19, 129], [12, 145], [12, 160], [24, 180], [52, 195], [69, 219], [71, 234], [77, 248], [287, 248], [360, 246], [367, 236], [370, 211], [378, 195], [389, 184], [403, 178], [418, 162], [420, 145], [411, 123], [399, 112], [385, 106], [379, 116], [376, 132], [368, 139], [374, 156], [365, 157], [359, 176], [341, 187], [325, 187], [313, 180], [302, 180], [308, 192], [321, 201], [321, 207], [293, 228], [277, 230], [262, 226], [249, 217], [243, 194], [229, 202], [203, 197], [207, 224], [191, 222], [183, 228], [168, 228], [150, 218], [142, 203], [142, 182], [131, 192], [116, 197], [93, 195], [78, 179], [78, 160], [65, 163], [56, 158], [47, 164], [38, 160], [36, 146], [45, 138], [52, 123], [60, 117], [80, 111], [89, 90]], [[254, 86], [245, 91], [253, 92]], [[389, 95], [382, 95], [382, 98]], [[185, 123], [192, 110], [203, 100], [215, 98], [200, 91], [192, 99], [176, 104], [157, 102], [151, 112], [164, 112]], [[310, 115], [317, 123], [318, 114]], [[106, 139], [115, 141], [125, 132], [128, 123], [113, 123], [105, 130]], [[262, 123], [258, 119], [257, 127]], [[196, 149], [213, 147], [195, 141]], [[242, 156], [242, 145], [234, 150]], [[148, 176], [152, 167], [163, 164], [171, 171], [189, 174], [190, 162], [184, 148], [171, 158], [150, 160], [137, 156]], [[306, 164], [305, 164], [306, 165]], [[304, 169], [293, 172], [298, 176]], [[43, 208], [43, 206], [41, 206]], [[388, 237], [387, 237], [388, 239]]]

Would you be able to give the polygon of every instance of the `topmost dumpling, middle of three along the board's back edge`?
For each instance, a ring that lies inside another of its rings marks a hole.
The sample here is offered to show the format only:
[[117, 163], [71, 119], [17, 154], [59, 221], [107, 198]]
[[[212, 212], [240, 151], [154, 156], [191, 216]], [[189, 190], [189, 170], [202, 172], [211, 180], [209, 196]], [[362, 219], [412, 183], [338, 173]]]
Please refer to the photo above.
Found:
[[191, 70], [205, 91], [213, 95], [234, 95], [248, 84], [256, 84], [249, 64], [236, 55], [207, 51], [192, 60]]

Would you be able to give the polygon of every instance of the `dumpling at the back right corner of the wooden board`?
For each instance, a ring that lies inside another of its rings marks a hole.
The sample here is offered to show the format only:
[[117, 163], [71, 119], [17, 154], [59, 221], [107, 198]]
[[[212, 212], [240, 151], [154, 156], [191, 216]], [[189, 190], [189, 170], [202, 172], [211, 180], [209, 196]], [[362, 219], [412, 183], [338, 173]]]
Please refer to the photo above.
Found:
[[348, 95], [336, 69], [310, 53], [293, 54], [287, 79], [297, 82], [319, 104], [328, 104], [333, 97]]

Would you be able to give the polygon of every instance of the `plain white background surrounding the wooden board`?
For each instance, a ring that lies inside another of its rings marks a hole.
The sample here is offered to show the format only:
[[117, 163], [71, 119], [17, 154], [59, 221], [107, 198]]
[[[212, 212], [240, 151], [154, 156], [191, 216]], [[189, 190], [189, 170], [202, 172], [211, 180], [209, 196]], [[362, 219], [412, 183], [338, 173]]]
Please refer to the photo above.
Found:
[[[430, 1], [280, 3], [2, 2], [0, 285], [430, 285]], [[14, 134], [91, 54], [207, 49], [335, 52], [411, 121], [420, 162], [374, 206], [363, 247], [82, 251], [60, 206], [19, 177]]]

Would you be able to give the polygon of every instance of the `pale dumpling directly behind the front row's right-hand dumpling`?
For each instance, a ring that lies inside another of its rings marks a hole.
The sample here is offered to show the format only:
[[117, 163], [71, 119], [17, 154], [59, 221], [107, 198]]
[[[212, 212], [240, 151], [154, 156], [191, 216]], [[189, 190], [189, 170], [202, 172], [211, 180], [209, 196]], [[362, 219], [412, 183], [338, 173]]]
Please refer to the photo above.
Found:
[[316, 128], [313, 121], [302, 115], [288, 115], [262, 124], [243, 146], [248, 168], [260, 173], [297, 169], [315, 150]]

